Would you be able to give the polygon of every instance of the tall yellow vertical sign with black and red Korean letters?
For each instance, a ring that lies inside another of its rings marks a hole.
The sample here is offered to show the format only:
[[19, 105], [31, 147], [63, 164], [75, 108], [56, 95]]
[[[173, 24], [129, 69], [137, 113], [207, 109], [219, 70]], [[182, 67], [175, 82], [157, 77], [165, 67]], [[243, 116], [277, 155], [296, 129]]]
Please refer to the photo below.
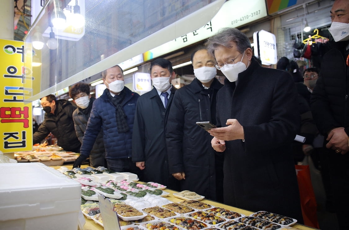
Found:
[[0, 39], [0, 47], [0, 150], [32, 150], [32, 106], [24, 103], [23, 87], [31, 70], [24, 66], [24, 42]]

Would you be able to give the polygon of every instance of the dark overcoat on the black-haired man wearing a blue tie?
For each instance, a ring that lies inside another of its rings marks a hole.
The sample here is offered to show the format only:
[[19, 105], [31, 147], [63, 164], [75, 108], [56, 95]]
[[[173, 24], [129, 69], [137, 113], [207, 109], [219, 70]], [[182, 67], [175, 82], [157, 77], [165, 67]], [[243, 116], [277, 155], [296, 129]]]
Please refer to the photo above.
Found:
[[[171, 86], [172, 87], [172, 86]], [[144, 180], [169, 186], [165, 125], [176, 88], [172, 87], [165, 109], [155, 88], [139, 97], [132, 135], [132, 161], [145, 162]], [[171, 187], [171, 186], [170, 186]]]

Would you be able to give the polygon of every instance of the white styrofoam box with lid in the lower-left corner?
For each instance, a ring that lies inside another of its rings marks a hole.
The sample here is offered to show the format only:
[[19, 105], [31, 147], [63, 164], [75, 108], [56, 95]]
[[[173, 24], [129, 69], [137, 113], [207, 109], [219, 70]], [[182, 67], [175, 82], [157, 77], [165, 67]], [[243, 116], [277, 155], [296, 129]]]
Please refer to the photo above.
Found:
[[81, 185], [43, 163], [0, 164], [0, 229], [76, 230]]

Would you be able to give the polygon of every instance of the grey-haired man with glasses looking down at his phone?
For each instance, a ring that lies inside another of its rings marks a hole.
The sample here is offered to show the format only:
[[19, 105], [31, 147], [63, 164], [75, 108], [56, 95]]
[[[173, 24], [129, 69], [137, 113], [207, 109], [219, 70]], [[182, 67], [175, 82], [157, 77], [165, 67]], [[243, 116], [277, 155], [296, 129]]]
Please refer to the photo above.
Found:
[[224, 154], [224, 203], [303, 222], [291, 143], [299, 127], [297, 90], [289, 73], [261, 67], [250, 40], [235, 28], [208, 38], [227, 77], [217, 95], [217, 126], [209, 131]]

